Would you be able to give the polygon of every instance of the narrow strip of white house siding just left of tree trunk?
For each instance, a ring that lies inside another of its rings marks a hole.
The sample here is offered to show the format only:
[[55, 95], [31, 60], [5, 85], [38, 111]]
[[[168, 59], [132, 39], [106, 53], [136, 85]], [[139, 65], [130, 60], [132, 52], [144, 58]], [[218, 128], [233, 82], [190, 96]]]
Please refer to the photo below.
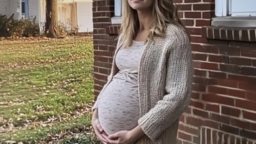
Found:
[[28, 0], [28, 16], [29, 18], [35, 18], [36, 16], [36, 22], [39, 21], [39, 0]]

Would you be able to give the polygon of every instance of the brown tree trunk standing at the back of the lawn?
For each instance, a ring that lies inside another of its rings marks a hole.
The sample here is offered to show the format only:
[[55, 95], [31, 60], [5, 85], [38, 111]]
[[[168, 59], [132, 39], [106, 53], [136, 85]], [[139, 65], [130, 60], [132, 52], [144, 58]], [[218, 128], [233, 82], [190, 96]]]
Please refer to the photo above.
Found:
[[46, 0], [45, 34], [47, 37], [60, 36], [58, 29], [58, 0]]

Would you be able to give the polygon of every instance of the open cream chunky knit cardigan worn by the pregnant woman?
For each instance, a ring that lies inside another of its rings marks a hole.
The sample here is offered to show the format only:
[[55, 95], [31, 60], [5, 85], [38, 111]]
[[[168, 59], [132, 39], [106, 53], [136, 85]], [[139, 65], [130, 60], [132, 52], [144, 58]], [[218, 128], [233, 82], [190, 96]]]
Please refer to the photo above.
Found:
[[[190, 101], [193, 71], [188, 35], [173, 24], [168, 24], [165, 34], [148, 41], [140, 59], [138, 124], [146, 135], [136, 144], [176, 143], [179, 117]], [[119, 48], [118, 41], [108, 82], [100, 94], [118, 71], [115, 58]], [[93, 110], [98, 108], [100, 94]]]

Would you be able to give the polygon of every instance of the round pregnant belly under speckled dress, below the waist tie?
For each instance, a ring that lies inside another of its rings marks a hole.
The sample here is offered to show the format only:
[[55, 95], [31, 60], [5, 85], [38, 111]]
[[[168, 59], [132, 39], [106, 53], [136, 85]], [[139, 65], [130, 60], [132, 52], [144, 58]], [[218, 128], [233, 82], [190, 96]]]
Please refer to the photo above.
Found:
[[139, 119], [137, 84], [114, 78], [100, 96], [98, 118], [108, 135], [135, 128]]

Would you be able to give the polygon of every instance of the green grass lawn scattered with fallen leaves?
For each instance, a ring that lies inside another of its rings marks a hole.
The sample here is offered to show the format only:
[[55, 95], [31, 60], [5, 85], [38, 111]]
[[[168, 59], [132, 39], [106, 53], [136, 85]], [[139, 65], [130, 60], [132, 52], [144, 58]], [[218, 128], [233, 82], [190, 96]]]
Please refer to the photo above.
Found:
[[93, 85], [91, 37], [0, 41], [0, 143], [85, 132]]

